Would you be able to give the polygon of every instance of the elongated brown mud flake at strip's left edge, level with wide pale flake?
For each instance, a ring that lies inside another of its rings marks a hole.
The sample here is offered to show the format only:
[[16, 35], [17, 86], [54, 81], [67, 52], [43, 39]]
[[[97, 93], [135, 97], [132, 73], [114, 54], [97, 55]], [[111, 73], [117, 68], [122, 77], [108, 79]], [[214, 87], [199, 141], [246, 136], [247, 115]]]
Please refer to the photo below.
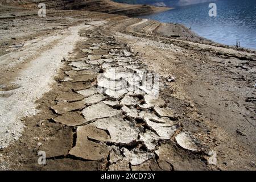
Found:
[[84, 107], [84, 101], [58, 102], [57, 105], [52, 106], [51, 109], [54, 110], [57, 114], [64, 114], [68, 111], [83, 109]]

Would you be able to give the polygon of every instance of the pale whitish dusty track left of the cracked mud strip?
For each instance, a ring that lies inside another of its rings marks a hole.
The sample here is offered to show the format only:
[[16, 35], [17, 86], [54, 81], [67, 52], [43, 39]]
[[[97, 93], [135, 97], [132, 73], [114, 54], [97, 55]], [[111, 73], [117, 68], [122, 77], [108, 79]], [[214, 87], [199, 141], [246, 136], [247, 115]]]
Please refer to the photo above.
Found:
[[[61, 36], [53, 36], [49, 39], [49, 43], [42, 43], [47, 45], [57, 41], [55, 46], [43, 52], [39, 45], [36, 49], [28, 48], [19, 53], [21, 59], [31, 59], [29, 63], [21, 71], [16, 74], [19, 77], [13, 85], [19, 85], [14, 90], [4, 90], [1, 94], [8, 94], [8, 97], [0, 97], [1, 99], [1, 123], [0, 123], [0, 146], [7, 147], [10, 142], [17, 140], [20, 133], [23, 131], [23, 123], [20, 121], [27, 115], [36, 114], [34, 101], [42, 97], [43, 93], [48, 92], [49, 85], [53, 82], [53, 76], [56, 75], [58, 69], [61, 67], [60, 60], [68, 55], [74, 48], [80, 36], [78, 32], [81, 28], [89, 28], [90, 26], [76, 26], [70, 27], [68, 31], [62, 32]], [[40, 44], [40, 43], [39, 43]], [[47, 46], [48, 47], [48, 46]], [[59, 51], [59, 50], [63, 51]], [[27, 50], [36, 53], [32, 56], [31, 52], [27, 55]], [[40, 53], [38, 53], [40, 52]], [[2, 56], [2, 61], [9, 63], [10, 57], [16, 57], [16, 52], [9, 53], [8, 56]], [[6, 60], [6, 61], [5, 61]], [[47, 72], [47, 74], [45, 74]], [[6, 85], [3, 85], [4, 87]], [[9, 86], [9, 85], [7, 85]]]

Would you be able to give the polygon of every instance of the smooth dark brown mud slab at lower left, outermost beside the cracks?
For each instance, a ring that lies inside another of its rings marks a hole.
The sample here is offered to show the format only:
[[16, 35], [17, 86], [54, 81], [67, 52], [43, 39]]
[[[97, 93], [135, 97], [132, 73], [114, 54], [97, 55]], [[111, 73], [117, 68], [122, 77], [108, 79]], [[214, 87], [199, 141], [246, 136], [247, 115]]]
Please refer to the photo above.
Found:
[[64, 127], [57, 130], [51, 137], [46, 138], [46, 142], [40, 147], [40, 150], [45, 151], [47, 158], [55, 156], [67, 155], [72, 148], [73, 132], [69, 127]]

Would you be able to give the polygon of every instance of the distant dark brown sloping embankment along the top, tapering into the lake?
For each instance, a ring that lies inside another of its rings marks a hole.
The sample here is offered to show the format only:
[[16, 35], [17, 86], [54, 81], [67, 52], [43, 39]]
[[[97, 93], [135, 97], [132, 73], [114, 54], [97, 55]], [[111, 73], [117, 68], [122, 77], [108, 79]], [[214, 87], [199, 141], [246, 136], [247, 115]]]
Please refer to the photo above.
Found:
[[112, 13], [127, 16], [151, 14], [158, 11], [166, 11], [170, 8], [155, 7], [150, 5], [128, 5], [110, 0], [22, 0], [22, 1], [0, 1], [2, 5], [22, 5], [24, 7], [35, 7], [38, 3], [45, 3], [48, 9], [87, 10], [103, 13]]

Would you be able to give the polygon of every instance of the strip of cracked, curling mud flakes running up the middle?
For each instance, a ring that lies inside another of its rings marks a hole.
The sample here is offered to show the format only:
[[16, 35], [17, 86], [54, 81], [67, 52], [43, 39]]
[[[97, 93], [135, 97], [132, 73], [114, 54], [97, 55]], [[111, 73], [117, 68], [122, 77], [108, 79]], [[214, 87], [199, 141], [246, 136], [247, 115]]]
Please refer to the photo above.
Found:
[[162, 159], [162, 142], [174, 144], [177, 135], [185, 150], [200, 147], [188, 134], [178, 134], [179, 117], [160, 97], [158, 75], [126, 44], [101, 34], [86, 31], [84, 46], [64, 60], [65, 92], [51, 107], [58, 115], [53, 121], [75, 130], [68, 155], [106, 160], [109, 170], [172, 169]]

